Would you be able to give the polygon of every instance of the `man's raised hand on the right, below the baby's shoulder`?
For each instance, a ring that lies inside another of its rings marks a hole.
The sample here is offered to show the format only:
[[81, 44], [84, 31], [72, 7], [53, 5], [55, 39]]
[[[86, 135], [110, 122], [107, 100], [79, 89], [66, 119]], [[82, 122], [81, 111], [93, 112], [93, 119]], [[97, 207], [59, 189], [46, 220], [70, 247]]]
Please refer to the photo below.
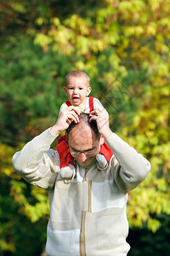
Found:
[[89, 121], [95, 120], [98, 126], [99, 133], [105, 137], [109, 137], [112, 134], [112, 131], [109, 126], [109, 114], [105, 108], [97, 108], [93, 110], [89, 116], [91, 117]]

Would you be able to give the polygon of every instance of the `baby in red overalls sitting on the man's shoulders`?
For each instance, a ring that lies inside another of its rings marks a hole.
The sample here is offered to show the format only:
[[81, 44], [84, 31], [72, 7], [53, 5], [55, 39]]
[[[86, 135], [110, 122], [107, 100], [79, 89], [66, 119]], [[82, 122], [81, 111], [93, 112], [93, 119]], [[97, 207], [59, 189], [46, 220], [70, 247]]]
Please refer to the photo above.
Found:
[[[91, 96], [88, 97], [92, 89], [90, 87], [90, 79], [87, 73], [80, 70], [68, 73], [65, 77], [64, 89], [65, 95], [68, 97], [68, 101], [61, 105], [59, 113], [71, 105], [77, 107], [80, 113], [90, 113], [96, 108], [104, 108], [98, 99]], [[60, 159], [60, 175], [64, 178], [65, 183], [69, 183], [75, 177], [76, 163], [69, 152], [66, 134], [59, 137], [57, 151]], [[101, 145], [100, 152], [96, 155], [99, 170], [105, 170], [107, 168], [112, 154], [111, 148], [109, 148], [106, 143]]]

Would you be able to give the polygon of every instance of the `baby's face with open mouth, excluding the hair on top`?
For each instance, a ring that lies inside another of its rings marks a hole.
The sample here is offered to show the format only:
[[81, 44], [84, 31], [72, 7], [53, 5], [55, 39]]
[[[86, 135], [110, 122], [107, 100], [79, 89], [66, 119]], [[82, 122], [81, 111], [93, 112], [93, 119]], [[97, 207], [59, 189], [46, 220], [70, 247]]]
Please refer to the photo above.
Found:
[[86, 101], [86, 96], [89, 95], [90, 91], [91, 87], [88, 84], [88, 80], [83, 76], [71, 76], [67, 80], [65, 94], [74, 106], [81, 106]]

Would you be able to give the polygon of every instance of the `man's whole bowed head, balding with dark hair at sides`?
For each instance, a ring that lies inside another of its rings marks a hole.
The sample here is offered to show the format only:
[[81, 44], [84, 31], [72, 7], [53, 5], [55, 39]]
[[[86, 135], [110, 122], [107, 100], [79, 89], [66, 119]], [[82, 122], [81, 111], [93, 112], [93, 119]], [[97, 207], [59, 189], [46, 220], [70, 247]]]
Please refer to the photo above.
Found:
[[89, 168], [99, 154], [100, 145], [104, 138], [100, 136], [96, 122], [89, 123], [88, 113], [79, 115], [79, 123], [71, 123], [66, 130], [71, 155], [77, 160], [79, 166]]

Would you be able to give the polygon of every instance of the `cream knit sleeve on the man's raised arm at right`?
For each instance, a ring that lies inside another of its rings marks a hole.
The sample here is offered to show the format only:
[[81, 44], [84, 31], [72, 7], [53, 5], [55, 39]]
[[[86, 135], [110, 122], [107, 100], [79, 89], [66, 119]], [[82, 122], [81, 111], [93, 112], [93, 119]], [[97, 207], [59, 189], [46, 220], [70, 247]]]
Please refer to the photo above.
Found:
[[116, 184], [119, 189], [127, 193], [147, 177], [150, 172], [150, 162], [115, 133], [107, 138], [106, 144], [116, 156], [114, 161]]

